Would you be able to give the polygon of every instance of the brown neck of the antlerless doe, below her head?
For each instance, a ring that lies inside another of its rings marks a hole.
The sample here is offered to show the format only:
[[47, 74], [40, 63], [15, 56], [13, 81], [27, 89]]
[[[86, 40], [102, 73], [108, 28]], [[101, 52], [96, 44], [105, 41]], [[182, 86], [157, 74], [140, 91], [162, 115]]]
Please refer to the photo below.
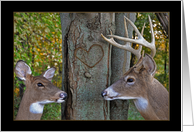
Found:
[[[35, 101], [30, 98], [30, 94], [28, 93], [29, 91], [26, 89], [22, 97], [22, 101], [20, 103], [16, 120], [40, 120], [42, 116], [42, 113], [34, 114], [30, 112], [30, 106], [32, 106], [33, 104], [34, 105], [37, 105], [37, 104], [34, 103]], [[44, 105], [37, 106], [37, 107], [42, 107], [41, 109], [43, 111]]]

